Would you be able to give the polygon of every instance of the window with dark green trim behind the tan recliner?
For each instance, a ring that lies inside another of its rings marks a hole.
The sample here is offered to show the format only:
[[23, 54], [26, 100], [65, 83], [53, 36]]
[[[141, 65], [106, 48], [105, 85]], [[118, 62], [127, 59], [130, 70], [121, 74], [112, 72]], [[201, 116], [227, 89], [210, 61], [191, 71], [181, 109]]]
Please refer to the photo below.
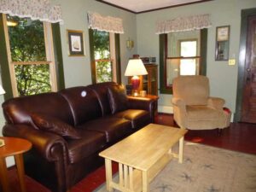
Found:
[[172, 94], [172, 79], [206, 74], [207, 29], [160, 34], [160, 93]]

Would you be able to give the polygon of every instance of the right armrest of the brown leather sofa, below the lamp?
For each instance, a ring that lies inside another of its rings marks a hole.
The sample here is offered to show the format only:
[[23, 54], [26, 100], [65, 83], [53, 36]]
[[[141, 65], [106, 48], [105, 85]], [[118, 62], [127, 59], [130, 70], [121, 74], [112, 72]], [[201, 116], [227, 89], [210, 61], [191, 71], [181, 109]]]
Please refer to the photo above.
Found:
[[158, 96], [137, 97], [128, 96], [128, 107], [134, 109], [143, 109], [150, 113], [151, 122], [154, 122], [154, 114], [157, 111]]

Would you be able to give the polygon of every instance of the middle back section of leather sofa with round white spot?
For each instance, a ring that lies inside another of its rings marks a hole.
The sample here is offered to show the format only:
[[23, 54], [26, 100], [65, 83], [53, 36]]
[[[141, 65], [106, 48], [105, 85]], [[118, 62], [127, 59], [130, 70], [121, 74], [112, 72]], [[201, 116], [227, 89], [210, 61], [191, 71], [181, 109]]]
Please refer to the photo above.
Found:
[[81, 125], [90, 119], [102, 117], [102, 108], [93, 90], [85, 86], [60, 90], [73, 113], [74, 125]]

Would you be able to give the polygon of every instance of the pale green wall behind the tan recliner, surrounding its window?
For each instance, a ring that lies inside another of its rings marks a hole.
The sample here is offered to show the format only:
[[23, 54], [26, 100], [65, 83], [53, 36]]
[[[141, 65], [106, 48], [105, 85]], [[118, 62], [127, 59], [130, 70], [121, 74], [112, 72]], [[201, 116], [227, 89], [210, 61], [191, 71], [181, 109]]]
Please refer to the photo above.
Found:
[[[240, 41], [241, 9], [256, 7], [256, 0], [214, 0], [171, 9], [137, 15], [137, 51], [139, 55], [156, 56], [159, 61], [159, 36], [155, 34], [158, 20], [172, 20], [179, 16], [210, 14], [212, 27], [207, 39], [207, 77], [210, 79], [211, 95], [226, 100], [232, 112], [236, 109], [236, 84]], [[230, 25], [230, 57], [235, 55], [236, 66], [228, 61], [215, 61], [216, 26]], [[150, 41], [149, 41], [150, 39]], [[171, 95], [160, 95], [159, 105], [170, 107]]]

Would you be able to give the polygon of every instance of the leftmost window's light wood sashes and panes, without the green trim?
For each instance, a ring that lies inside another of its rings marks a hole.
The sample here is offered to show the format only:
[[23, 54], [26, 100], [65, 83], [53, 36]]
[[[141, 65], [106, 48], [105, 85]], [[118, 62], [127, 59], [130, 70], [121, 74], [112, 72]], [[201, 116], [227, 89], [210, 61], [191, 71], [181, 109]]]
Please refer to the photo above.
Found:
[[[14, 96], [56, 90], [51, 26], [39, 20], [4, 16]], [[13, 24], [13, 25], [11, 25]], [[7, 31], [7, 32], [6, 32]]]

